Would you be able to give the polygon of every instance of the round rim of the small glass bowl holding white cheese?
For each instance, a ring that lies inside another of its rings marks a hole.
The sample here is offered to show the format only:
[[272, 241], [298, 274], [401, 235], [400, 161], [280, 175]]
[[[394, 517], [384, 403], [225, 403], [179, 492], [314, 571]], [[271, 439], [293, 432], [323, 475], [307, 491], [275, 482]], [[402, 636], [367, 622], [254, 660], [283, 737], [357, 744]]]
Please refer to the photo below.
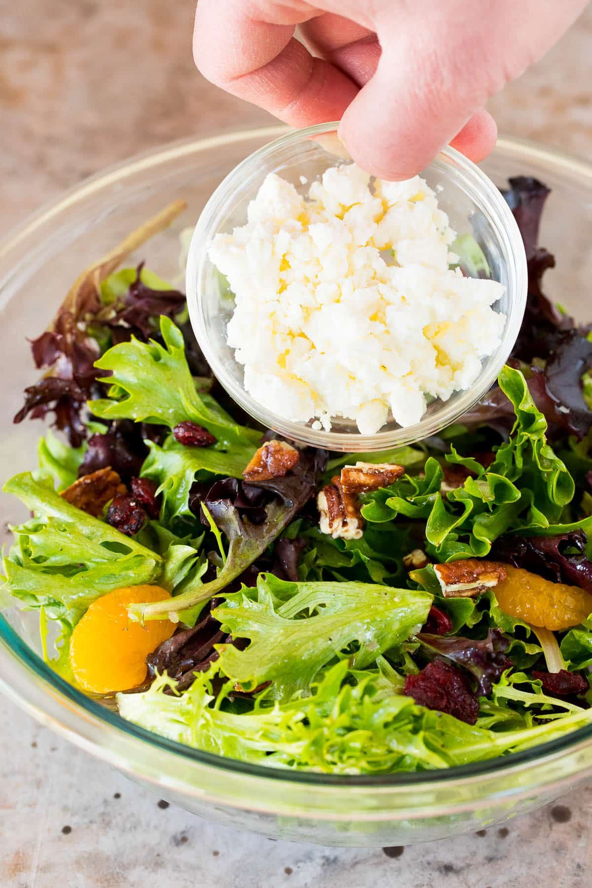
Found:
[[456, 151], [453, 147], [446, 146], [435, 158], [435, 161], [443, 159], [454, 163], [455, 169], [462, 176], [467, 194], [474, 201], [478, 201], [488, 214], [490, 224], [500, 242], [501, 250], [505, 251], [508, 267], [508, 290], [511, 302], [508, 307], [507, 319], [504, 324], [501, 343], [497, 348], [495, 361], [488, 369], [481, 369], [475, 382], [470, 388], [454, 392], [454, 398], [440, 401], [438, 410], [433, 414], [426, 414], [419, 423], [410, 426], [399, 427], [384, 432], [375, 432], [367, 435], [350, 432], [325, 432], [315, 430], [299, 422], [292, 422], [285, 417], [275, 414], [271, 409], [251, 396], [233, 374], [227, 369], [227, 363], [222, 356], [217, 354], [216, 348], [211, 344], [209, 326], [206, 322], [204, 303], [201, 295], [205, 286], [204, 275], [208, 259], [205, 246], [216, 231], [219, 219], [228, 210], [232, 202], [232, 195], [236, 186], [245, 178], [252, 178], [254, 170], [260, 163], [264, 163], [276, 153], [280, 153], [286, 147], [305, 143], [312, 136], [334, 133], [338, 122], [318, 123], [301, 130], [288, 130], [279, 138], [268, 142], [264, 146], [248, 155], [241, 163], [237, 164], [227, 176], [220, 182], [216, 190], [210, 195], [208, 202], [201, 210], [197, 220], [189, 253], [187, 257], [185, 292], [187, 305], [193, 326], [193, 332], [204, 353], [206, 360], [214, 371], [218, 382], [226, 392], [235, 400], [243, 410], [267, 428], [285, 435], [288, 439], [317, 448], [341, 450], [348, 452], [372, 452], [402, 447], [423, 440], [430, 435], [438, 434], [446, 426], [453, 424], [463, 413], [474, 407], [477, 401], [483, 397], [497, 377], [501, 368], [508, 359], [514, 338], [513, 329], [517, 329], [522, 321], [526, 306], [527, 270], [526, 256], [522, 238], [518, 226], [507, 202], [502, 198], [499, 190], [493, 185], [491, 179], [479, 169], [476, 163], [472, 163], [467, 157]]

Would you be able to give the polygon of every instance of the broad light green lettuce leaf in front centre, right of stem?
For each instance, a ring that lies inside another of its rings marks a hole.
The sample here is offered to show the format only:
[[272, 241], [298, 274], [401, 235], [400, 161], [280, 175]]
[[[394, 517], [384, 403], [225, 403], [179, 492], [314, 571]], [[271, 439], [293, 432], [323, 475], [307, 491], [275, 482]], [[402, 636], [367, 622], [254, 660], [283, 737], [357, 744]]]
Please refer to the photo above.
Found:
[[229, 595], [212, 612], [233, 638], [250, 640], [244, 651], [217, 646], [220, 668], [246, 691], [272, 681], [275, 696], [289, 697], [352, 643], [352, 668], [375, 662], [419, 630], [431, 600], [375, 583], [286, 583], [260, 574], [257, 591]]

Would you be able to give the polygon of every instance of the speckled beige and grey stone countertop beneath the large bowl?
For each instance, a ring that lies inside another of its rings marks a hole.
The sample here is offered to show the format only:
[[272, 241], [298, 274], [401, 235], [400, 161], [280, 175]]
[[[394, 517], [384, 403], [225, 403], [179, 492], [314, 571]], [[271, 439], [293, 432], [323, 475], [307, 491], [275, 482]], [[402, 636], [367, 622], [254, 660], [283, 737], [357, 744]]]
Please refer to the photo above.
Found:
[[[0, 0], [0, 233], [108, 163], [269, 121], [204, 83], [193, 4]], [[490, 108], [500, 130], [592, 155], [592, 10]], [[371, 851], [259, 838], [158, 801], [0, 699], [6, 888], [586, 888], [592, 785], [451, 841]]]

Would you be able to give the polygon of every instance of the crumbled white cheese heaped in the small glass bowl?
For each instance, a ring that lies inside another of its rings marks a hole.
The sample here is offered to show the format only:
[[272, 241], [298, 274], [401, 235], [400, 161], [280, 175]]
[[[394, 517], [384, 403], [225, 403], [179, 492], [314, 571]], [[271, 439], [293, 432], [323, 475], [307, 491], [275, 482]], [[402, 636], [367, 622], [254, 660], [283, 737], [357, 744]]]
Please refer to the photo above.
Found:
[[247, 224], [209, 245], [246, 390], [286, 419], [330, 430], [342, 416], [370, 435], [389, 411], [412, 425], [426, 395], [467, 389], [500, 343], [504, 288], [449, 267], [455, 236], [419, 176], [371, 183], [343, 164], [304, 197], [268, 175]]

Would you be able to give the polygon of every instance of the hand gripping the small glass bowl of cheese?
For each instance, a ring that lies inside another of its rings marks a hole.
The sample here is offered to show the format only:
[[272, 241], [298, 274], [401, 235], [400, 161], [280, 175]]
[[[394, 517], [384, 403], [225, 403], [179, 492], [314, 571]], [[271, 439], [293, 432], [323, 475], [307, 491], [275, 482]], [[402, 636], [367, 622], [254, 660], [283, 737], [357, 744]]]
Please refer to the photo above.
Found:
[[586, 5], [200, 0], [193, 54], [212, 83], [292, 126], [341, 120], [360, 166], [409, 178], [449, 142], [483, 159], [497, 132], [486, 100], [540, 59]]

